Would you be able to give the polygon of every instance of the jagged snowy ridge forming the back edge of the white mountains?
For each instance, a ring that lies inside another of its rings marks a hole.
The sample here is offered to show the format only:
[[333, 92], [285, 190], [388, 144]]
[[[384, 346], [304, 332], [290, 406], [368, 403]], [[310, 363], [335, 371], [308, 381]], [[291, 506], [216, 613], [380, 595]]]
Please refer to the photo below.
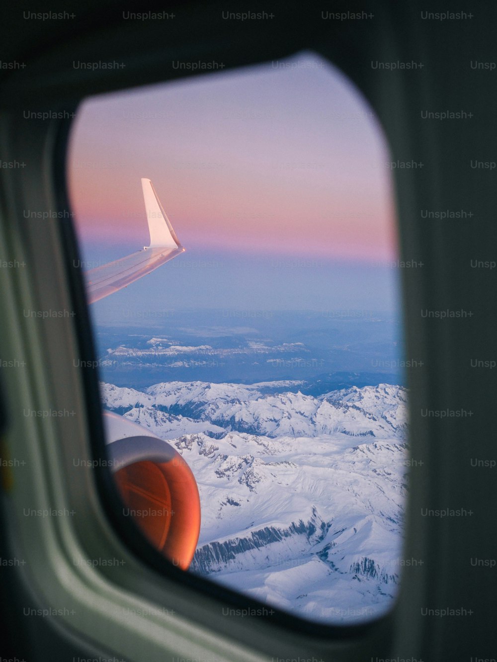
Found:
[[263, 395], [260, 386], [170, 382], [141, 393], [104, 385], [103, 399], [107, 408], [114, 410], [126, 404], [154, 406], [224, 430], [275, 438], [341, 432], [384, 439], [404, 436], [406, 431], [406, 392], [402, 387], [352, 387], [315, 398], [300, 390]]

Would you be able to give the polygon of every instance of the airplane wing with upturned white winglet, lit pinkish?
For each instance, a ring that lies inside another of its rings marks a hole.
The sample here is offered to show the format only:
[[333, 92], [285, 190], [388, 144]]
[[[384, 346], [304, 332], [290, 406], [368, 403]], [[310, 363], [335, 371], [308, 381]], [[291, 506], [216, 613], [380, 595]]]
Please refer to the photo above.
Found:
[[150, 246], [85, 273], [88, 302], [94, 303], [134, 283], [185, 249], [167, 218], [150, 179], [142, 178]]

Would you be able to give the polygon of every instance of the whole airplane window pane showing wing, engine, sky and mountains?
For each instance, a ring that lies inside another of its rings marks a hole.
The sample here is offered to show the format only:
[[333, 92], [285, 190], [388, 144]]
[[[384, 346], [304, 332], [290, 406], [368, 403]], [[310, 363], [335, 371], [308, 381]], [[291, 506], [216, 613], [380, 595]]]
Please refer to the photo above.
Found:
[[416, 561], [396, 164], [326, 60], [221, 64], [87, 99], [71, 135], [123, 514], [268, 610], [365, 622]]

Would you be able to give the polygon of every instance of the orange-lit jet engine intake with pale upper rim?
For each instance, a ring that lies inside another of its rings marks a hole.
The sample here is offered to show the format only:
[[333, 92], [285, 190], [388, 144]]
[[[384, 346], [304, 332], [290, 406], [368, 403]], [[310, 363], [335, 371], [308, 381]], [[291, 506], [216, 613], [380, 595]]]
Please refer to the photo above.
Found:
[[[114, 414], [115, 416], [115, 414]], [[131, 436], [107, 446], [114, 479], [131, 516], [169, 561], [188, 569], [201, 524], [199, 490], [183, 457], [154, 436]]]

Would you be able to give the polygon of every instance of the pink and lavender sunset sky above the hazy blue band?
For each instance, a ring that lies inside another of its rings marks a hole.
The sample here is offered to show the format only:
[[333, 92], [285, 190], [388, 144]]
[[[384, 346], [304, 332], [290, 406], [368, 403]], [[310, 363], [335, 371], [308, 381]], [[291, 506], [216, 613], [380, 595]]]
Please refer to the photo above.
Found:
[[148, 244], [148, 177], [187, 250], [394, 260], [388, 152], [338, 70], [300, 54], [94, 97], [73, 127], [83, 242]]

